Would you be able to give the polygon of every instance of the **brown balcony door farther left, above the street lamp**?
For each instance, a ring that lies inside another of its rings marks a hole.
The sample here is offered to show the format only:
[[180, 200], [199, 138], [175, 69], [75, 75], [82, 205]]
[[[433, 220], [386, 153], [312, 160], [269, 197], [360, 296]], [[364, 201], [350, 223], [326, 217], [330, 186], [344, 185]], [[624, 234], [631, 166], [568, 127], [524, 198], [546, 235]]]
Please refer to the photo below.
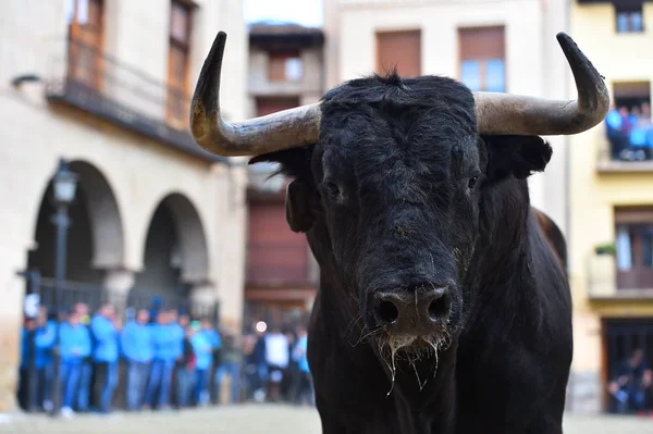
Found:
[[67, 0], [69, 77], [99, 89], [102, 85], [101, 0]]

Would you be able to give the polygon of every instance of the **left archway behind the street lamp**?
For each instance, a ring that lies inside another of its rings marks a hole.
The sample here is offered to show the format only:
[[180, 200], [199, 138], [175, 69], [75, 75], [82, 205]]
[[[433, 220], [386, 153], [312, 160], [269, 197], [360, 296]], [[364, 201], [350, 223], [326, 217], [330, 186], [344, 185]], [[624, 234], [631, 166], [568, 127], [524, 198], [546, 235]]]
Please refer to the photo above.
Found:
[[53, 277], [57, 227], [50, 179], [41, 198], [35, 227], [35, 248], [28, 252], [27, 266], [41, 276], [41, 302], [62, 308], [76, 301], [96, 307], [102, 298], [104, 270], [118, 268], [124, 258], [123, 226], [115, 196], [107, 177], [85, 161], [70, 163], [78, 175], [75, 200], [69, 207], [71, 225], [65, 251], [65, 283], [54, 306]]

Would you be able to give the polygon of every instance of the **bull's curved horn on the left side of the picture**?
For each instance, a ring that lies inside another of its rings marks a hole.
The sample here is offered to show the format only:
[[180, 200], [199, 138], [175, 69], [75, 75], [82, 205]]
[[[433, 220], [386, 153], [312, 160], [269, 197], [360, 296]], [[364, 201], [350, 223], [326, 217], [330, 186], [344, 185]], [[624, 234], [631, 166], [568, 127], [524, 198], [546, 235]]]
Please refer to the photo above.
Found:
[[319, 103], [230, 124], [220, 114], [220, 72], [226, 34], [220, 32], [199, 73], [190, 103], [190, 133], [207, 151], [252, 156], [315, 144], [320, 134]]

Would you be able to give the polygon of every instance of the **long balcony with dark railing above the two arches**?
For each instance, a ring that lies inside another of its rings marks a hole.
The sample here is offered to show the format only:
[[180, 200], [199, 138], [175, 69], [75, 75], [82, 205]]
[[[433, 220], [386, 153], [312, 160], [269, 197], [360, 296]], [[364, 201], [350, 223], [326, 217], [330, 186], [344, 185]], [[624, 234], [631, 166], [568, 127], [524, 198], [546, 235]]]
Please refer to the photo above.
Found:
[[53, 55], [46, 97], [206, 161], [188, 132], [189, 96], [77, 40]]

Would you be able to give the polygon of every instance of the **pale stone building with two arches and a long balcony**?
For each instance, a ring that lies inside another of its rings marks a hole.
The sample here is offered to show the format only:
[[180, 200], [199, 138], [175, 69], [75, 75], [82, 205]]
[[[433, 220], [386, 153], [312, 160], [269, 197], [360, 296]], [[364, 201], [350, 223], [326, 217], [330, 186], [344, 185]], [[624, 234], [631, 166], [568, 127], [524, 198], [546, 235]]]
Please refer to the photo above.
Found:
[[23, 300], [37, 270], [51, 297], [51, 177], [78, 175], [64, 303], [193, 300], [239, 327], [246, 168], [187, 132], [189, 95], [229, 34], [225, 115], [244, 119], [239, 0], [9, 0], [0, 14], [0, 412], [15, 408]]

